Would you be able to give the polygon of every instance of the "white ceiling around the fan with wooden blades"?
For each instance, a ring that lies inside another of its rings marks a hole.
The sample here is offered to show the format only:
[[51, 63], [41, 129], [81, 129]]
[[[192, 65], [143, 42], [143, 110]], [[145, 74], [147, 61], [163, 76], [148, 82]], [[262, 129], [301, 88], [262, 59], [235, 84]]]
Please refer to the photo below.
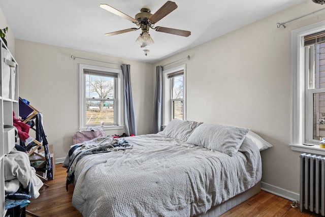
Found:
[[100, 8], [100, 4], [134, 17], [141, 8], [149, 8], [153, 14], [167, 0], [0, 0], [0, 7], [16, 39], [154, 63], [303, 1], [175, 0], [178, 8], [156, 26], [189, 30], [191, 35], [181, 37], [150, 29], [155, 44], [147, 47], [147, 56], [135, 43], [141, 29], [104, 36], [137, 25]]

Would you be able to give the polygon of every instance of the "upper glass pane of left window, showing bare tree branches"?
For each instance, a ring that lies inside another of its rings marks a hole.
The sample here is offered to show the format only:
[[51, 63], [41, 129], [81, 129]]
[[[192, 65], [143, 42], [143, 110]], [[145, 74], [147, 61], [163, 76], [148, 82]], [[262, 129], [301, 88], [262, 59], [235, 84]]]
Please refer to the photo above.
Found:
[[100, 76], [91, 73], [86, 76], [86, 98], [92, 99], [114, 99], [114, 78], [107, 77], [105, 74]]

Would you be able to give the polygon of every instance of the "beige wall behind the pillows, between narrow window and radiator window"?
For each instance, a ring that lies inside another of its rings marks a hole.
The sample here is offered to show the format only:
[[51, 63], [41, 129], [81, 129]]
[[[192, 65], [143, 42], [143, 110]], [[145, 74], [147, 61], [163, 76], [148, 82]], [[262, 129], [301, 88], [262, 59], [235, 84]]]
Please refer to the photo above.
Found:
[[[262, 181], [299, 194], [299, 152], [291, 151], [291, 30], [325, 20], [312, 1], [257, 21], [156, 63], [191, 56], [187, 119], [250, 128], [274, 147], [262, 151]], [[155, 67], [154, 66], [154, 67]], [[166, 68], [166, 69], [168, 69]]]

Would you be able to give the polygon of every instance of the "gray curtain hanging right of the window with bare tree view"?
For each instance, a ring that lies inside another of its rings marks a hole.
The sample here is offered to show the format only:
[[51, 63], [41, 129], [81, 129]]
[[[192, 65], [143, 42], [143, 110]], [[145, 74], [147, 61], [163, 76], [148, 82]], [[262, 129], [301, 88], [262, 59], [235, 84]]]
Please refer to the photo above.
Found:
[[124, 122], [127, 135], [137, 135], [136, 118], [134, 115], [131, 90], [130, 65], [121, 65], [124, 80]]

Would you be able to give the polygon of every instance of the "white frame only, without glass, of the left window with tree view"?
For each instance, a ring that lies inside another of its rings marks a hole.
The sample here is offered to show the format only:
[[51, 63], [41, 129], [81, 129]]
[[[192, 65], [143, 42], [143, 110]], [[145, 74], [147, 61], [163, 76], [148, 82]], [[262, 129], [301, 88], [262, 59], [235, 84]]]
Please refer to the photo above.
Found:
[[[85, 96], [85, 72], [84, 70], [94, 70], [98, 72], [105, 72], [108, 73], [116, 73], [117, 78], [114, 82], [115, 90], [114, 90], [114, 120], [116, 120], [116, 126], [104, 126], [101, 127], [100, 125], [92, 126], [94, 128], [102, 128], [104, 130], [116, 130], [116, 129], [123, 129], [123, 111], [124, 111], [124, 105], [123, 105], [123, 82], [122, 82], [122, 70], [120, 69], [112, 69], [112, 68], [106, 68], [106, 67], [99, 67], [99, 66], [92, 66], [92, 65], [85, 65], [85, 64], [79, 64], [79, 130], [85, 130], [87, 127], [85, 122], [85, 116], [86, 116], [86, 101], [88, 98]], [[94, 99], [94, 101], [98, 101], [100, 99]]]

